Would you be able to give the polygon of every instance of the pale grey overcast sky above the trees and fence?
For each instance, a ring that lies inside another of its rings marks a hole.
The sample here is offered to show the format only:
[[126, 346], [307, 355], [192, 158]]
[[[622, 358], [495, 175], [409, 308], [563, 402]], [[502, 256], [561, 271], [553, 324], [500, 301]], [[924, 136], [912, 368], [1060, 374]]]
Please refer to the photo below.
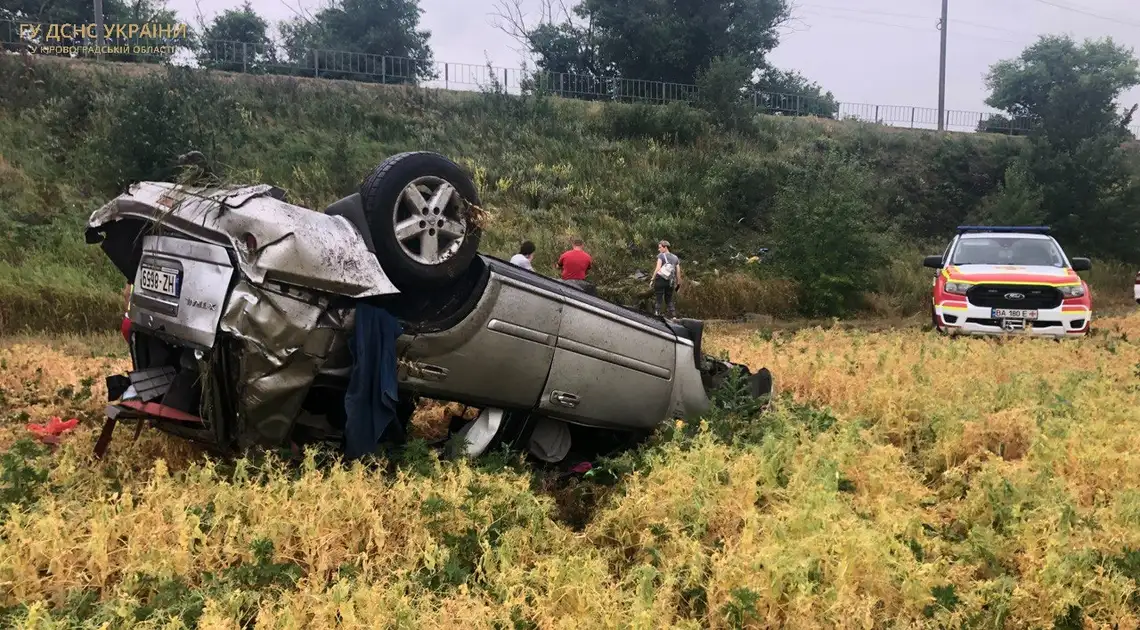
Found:
[[[537, 18], [538, 1], [529, 17]], [[793, 0], [795, 22], [782, 30], [769, 59], [801, 72], [845, 103], [937, 107], [939, 0]], [[234, 0], [169, 0], [182, 19], [212, 17]], [[572, 3], [572, 0], [567, 2]], [[271, 22], [323, 0], [254, 0]], [[439, 62], [519, 67], [518, 48], [497, 30], [495, 0], [421, 0]], [[1112, 35], [1140, 50], [1137, 0], [950, 0], [946, 107], [982, 112], [983, 77], [991, 64], [1016, 57], [1037, 34], [1076, 39]], [[652, 79], [652, 77], [642, 77]], [[1122, 105], [1140, 101], [1140, 88]]]

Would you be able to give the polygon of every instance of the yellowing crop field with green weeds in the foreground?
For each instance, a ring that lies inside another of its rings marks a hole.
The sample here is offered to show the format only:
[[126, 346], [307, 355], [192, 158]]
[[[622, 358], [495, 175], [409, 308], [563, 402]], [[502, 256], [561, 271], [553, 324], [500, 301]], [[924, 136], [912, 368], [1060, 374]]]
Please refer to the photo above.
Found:
[[[96, 463], [121, 342], [9, 337], [0, 624], [1135, 628], [1138, 342], [1140, 314], [1061, 343], [719, 326], [774, 410], [724, 394], [559, 481], [494, 455], [215, 463], [129, 429]], [[81, 427], [21, 441], [52, 415]]]

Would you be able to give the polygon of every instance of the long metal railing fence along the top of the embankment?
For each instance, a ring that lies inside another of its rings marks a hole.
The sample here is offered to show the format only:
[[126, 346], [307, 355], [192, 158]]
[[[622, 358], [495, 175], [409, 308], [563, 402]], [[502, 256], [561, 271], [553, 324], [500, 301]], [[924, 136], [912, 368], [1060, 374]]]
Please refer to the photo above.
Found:
[[[88, 32], [93, 32], [93, 28]], [[50, 50], [54, 55], [60, 55], [58, 44], [46, 49], [42, 39], [28, 38], [26, 30], [21, 30], [19, 23], [0, 22], [0, 43], [10, 52], [43, 54]], [[68, 43], [63, 51], [64, 56], [93, 57], [97, 52], [93, 41], [76, 40]], [[189, 40], [155, 42], [154, 39], [135, 38], [131, 41], [107, 42], [106, 46], [108, 48], [104, 49], [104, 58], [108, 60], [172, 63], [254, 74], [341, 79], [446, 90], [499, 89], [514, 95], [537, 89], [565, 98], [625, 103], [663, 104], [693, 101], [699, 97], [698, 87], [685, 83], [425, 62], [343, 50], [291, 50], [279, 44], [260, 46], [219, 40], [192, 44]], [[837, 103], [804, 95], [767, 92], [754, 93], [748, 99], [757, 109], [772, 115], [815, 115], [889, 126], [938, 128], [938, 111], [933, 107]], [[997, 112], [945, 112], [945, 128], [950, 131], [1025, 134], [1031, 126], [1026, 118], [1011, 118]], [[1140, 125], [1133, 128], [1133, 131], [1140, 136]]]

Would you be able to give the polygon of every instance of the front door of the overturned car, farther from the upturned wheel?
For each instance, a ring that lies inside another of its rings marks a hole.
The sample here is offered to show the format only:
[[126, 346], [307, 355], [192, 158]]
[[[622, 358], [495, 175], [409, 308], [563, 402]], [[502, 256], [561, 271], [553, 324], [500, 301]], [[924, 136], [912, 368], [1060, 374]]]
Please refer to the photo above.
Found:
[[591, 426], [650, 428], [669, 412], [676, 335], [660, 320], [564, 287], [538, 408]]

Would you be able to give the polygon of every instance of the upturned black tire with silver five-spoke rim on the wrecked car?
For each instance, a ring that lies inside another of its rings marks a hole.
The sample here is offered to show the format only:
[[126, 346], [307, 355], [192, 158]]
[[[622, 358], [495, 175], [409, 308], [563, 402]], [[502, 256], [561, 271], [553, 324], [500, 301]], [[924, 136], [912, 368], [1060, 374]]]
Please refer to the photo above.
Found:
[[361, 182], [360, 199], [376, 259], [400, 291], [446, 287], [475, 259], [482, 229], [471, 206], [481, 204], [479, 191], [447, 157], [393, 155]]

